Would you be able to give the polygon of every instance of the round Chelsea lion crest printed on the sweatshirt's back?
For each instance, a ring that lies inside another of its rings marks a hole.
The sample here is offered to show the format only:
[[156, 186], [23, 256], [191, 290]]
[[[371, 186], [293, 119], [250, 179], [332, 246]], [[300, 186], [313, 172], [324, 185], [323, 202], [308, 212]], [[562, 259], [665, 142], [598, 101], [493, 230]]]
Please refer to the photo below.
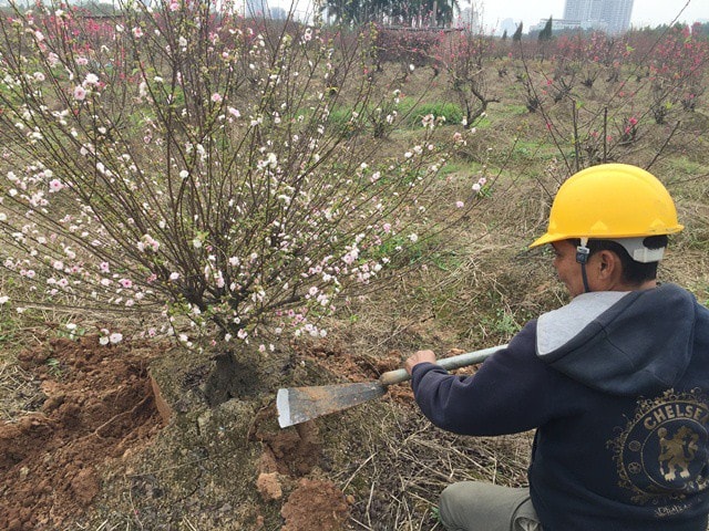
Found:
[[608, 441], [618, 485], [631, 491], [634, 502], [681, 501], [708, 487], [707, 423], [709, 406], [699, 393], [669, 389], [638, 403], [635, 417]]

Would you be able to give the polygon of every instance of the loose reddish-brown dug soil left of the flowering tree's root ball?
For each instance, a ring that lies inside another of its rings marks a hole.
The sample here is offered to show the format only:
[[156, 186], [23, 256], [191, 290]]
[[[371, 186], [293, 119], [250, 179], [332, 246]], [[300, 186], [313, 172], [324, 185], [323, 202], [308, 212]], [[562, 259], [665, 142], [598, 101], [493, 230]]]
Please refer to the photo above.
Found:
[[101, 469], [162, 426], [147, 363], [155, 345], [56, 339], [23, 352], [43, 404], [0, 426], [0, 529], [62, 529], [101, 488]]

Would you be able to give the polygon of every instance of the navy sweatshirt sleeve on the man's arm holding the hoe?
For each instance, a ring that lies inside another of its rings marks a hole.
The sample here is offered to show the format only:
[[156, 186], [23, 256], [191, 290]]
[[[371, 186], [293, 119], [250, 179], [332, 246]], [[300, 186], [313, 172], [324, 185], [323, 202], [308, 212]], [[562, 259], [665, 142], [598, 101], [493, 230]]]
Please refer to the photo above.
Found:
[[462, 435], [526, 431], [553, 414], [552, 389], [559, 375], [536, 356], [536, 321], [474, 375], [455, 376], [439, 365], [413, 368], [411, 386], [423, 414], [440, 428]]

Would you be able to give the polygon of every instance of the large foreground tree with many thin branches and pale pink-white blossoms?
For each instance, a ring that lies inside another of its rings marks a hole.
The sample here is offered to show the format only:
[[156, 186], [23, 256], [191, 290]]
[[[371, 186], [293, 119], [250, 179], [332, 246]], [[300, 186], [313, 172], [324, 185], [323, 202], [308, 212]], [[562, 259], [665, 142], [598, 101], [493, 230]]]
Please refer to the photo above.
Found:
[[[268, 351], [323, 336], [322, 316], [442, 229], [427, 201], [460, 133], [449, 142], [427, 116], [382, 156], [357, 132], [398, 92], [366, 75], [366, 35], [234, 13], [165, 0], [4, 15], [6, 308], [153, 314], [147, 335]], [[342, 108], [346, 127], [331, 119]], [[446, 199], [448, 221], [474, 196]]]

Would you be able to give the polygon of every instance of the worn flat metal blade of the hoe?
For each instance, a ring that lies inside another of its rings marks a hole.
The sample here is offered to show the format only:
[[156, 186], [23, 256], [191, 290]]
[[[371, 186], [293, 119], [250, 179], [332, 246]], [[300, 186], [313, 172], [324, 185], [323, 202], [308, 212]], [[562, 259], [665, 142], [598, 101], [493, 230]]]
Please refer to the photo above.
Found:
[[[278, 424], [285, 428], [305, 423], [311, 418], [379, 398], [384, 393], [387, 387], [380, 382], [278, 389], [276, 396]], [[297, 410], [291, 410], [290, 404], [297, 404]]]

